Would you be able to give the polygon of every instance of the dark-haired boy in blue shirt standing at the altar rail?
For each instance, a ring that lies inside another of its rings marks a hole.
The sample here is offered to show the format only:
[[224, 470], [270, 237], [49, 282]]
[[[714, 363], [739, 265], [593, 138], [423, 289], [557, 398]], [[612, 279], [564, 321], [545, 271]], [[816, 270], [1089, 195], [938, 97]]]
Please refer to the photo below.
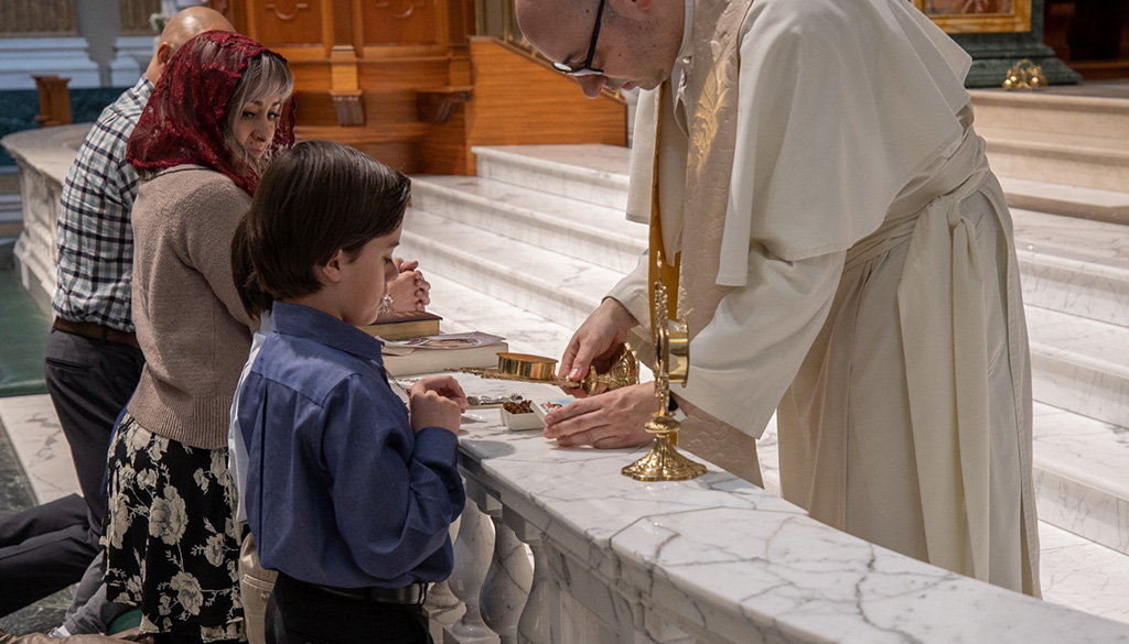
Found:
[[454, 378], [392, 391], [376, 319], [410, 182], [366, 155], [309, 141], [273, 161], [233, 241], [248, 312], [274, 330], [239, 390], [247, 521], [279, 571], [266, 637], [426, 643], [426, 584], [446, 579], [464, 494], [466, 397]]

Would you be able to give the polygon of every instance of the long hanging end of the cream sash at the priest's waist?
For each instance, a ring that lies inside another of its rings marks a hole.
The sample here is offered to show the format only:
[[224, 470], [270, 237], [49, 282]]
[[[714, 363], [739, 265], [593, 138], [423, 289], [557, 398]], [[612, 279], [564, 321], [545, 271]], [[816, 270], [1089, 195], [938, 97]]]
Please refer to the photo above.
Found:
[[[898, 285], [929, 561], [977, 579], [987, 579], [989, 556], [987, 312], [977, 222], [961, 202], [990, 176], [981, 157], [916, 217]], [[946, 537], [954, 527], [963, 541]]]

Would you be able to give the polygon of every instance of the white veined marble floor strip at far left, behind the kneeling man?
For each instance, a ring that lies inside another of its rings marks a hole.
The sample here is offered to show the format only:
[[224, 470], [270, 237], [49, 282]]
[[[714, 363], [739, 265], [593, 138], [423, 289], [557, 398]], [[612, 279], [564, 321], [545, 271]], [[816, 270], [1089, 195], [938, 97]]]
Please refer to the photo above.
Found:
[[38, 503], [82, 493], [50, 396], [0, 398], [0, 423], [8, 431]]

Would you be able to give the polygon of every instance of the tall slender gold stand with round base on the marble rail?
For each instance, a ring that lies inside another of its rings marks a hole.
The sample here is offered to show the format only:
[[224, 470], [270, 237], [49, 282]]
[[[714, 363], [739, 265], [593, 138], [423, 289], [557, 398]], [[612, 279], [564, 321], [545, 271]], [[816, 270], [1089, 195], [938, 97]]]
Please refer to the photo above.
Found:
[[[657, 261], [662, 264], [663, 255], [657, 255]], [[706, 466], [690, 460], [675, 449], [675, 436], [682, 425], [667, 411], [671, 382], [685, 382], [689, 374], [690, 341], [686, 323], [667, 317], [667, 293], [663, 280], [655, 280], [653, 288], [655, 302], [650, 326], [655, 343], [655, 397], [658, 399], [658, 411], [651, 414], [645, 429], [655, 435], [655, 443], [647, 456], [620, 471], [636, 480], [690, 480], [706, 474]]]

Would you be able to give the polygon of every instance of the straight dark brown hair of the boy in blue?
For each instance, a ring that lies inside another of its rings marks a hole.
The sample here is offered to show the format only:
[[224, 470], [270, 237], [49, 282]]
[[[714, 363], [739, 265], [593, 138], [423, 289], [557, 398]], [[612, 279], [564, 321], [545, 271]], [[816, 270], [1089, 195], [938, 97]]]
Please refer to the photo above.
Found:
[[279, 156], [231, 239], [231, 273], [247, 314], [317, 292], [314, 267], [394, 231], [410, 196], [408, 177], [341, 143], [305, 141]]

